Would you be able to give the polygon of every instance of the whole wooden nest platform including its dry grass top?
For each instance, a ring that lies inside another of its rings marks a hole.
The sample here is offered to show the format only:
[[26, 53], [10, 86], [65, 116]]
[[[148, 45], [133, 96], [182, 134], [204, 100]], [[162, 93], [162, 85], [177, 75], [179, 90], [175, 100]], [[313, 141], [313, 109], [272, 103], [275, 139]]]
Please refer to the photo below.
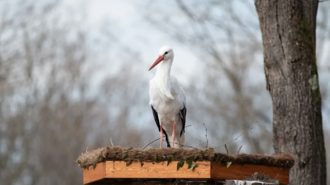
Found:
[[[228, 155], [212, 148], [140, 150], [115, 146], [86, 151], [77, 163], [83, 169], [83, 184], [224, 184], [225, 180], [248, 179], [288, 184], [294, 157], [289, 153]], [[263, 179], [256, 179], [257, 173]]]

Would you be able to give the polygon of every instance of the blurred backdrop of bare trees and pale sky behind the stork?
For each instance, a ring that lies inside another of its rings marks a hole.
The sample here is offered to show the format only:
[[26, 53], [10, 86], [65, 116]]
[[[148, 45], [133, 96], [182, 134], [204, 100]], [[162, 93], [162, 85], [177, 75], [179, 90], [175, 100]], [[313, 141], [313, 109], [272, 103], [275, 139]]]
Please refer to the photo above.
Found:
[[[0, 164], [6, 169], [0, 181], [82, 184], [73, 162], [82, 151], [111, 145], [110, 138], [140, 148], [157, 138], [148, 105], [154, 71], [148, 68], [163, 45], [174, 48], [172, 73], [187, 94], [186, 124], [192, 126], [186, 145], [206, 147], [203, 123], [208, 146], [217, 147], [258, 121], [228, 144], [229, 152], [243, 146], [241, 152], [273, 153], [272, 104], [253, 3], [0, 0]], [[317, 15], [324, 132], [328, 10], [330, 2], [320, 3]]]

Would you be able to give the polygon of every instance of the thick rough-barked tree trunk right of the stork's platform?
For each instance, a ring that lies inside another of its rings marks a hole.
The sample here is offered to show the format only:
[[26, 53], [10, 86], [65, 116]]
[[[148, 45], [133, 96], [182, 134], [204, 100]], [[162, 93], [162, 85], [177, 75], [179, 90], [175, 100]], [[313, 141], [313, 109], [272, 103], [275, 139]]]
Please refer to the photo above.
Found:
[[273, 101], [274, 148], [298, 158], [290, 171], [291, 185], [326, 184], [315, 57], [318, 0], [255, 0], [255, 7]]

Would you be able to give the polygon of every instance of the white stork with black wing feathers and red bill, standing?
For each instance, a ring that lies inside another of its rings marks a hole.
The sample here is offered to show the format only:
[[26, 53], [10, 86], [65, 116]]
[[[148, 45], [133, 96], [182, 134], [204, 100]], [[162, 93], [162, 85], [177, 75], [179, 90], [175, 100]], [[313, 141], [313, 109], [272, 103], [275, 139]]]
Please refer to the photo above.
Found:
[[[181, 83], [170, 74], [173, 59], [173, 49], [163, 46], [159, 50], [158, 58], [148, 70], [159, 64], [155, 77], [149, 81], [149, 105], [160, 131], [160, 148], [164, 135], [167, 147], [171, 147], [170, 143], [175, 148], [182, 148], [184, 145], [186, 97]], [[171, 132], [172, 137], [168, 138], [167, 133]], [[175, 136], [179, 136], [177, 142]]]

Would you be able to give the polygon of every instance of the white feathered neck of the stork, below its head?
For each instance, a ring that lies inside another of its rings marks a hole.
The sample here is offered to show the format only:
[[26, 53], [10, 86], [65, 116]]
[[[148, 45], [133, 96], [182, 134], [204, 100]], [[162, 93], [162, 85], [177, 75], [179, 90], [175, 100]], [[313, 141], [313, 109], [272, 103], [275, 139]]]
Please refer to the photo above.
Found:
[[[163, 60], [158, 64], [155, 79], [158, 81], [159, 88], [165, 90], [165, 94], [171, 93], [171, 67], [173, 58]], [[168, 94], [170, 95], [170, 94]]]

